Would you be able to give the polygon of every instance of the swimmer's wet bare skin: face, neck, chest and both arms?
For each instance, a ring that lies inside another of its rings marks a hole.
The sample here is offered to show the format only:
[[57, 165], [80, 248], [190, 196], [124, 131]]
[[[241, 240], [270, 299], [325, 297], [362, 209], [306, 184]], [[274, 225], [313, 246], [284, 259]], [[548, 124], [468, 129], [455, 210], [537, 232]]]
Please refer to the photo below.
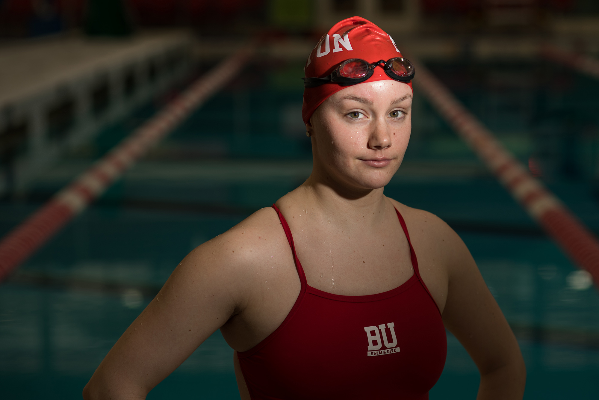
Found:
[[[383, 80], [348, 86], [323, 102], [306, 129], [313, 171], [277, 201], [307, 283], [369, 295], [413, 274], [395, 215], [406, 219], [420, 273], [446, 328], [481, 374], [479, 399], [521, 399], [518, 344], [464, 243], [438, 217], [383, 195], [411, 129], [412, 90]], [[300, 284], [273, 208], [263, 208], [193, 250], [108, 353], [86, 399], [143, 399], [216, 329], [236, 351], [252, 349], [285, 319]], [[234, 357], [242, 399], [247, 388]]]

